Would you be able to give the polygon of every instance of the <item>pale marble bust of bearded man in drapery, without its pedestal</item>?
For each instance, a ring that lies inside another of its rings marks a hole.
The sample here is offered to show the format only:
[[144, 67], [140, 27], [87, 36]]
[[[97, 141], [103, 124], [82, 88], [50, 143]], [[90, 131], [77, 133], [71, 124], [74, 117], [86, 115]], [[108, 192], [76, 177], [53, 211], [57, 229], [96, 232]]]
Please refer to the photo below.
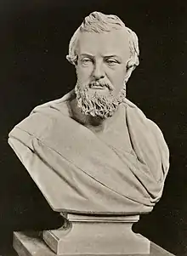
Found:
[[9, 133], [9, 145], [54, 211], [150, 212], [169, 152], [160, 128], [126, 97], [138, 37], [116, 15], [94, 12], [66, 58], [75, 65], [75, 89], [35, 107]]

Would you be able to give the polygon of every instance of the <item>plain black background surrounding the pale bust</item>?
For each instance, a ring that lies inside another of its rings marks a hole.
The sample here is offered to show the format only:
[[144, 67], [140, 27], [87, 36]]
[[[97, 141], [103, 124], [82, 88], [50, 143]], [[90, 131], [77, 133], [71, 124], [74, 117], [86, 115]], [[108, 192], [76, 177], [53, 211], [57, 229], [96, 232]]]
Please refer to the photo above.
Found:
[[12, 0], [0, 2], [3, 256], [11, 254], [13, 230], [61, 224], [8, 146], [8, 132], [34, 106], [74, 87], [74, 67], [65, 60], [68, 43], [94, 10], [118, 15], [138, 34], [140, 65], [127, 83], [127, 96], [160, 126], [171, 152], [161, 201], [137, 229], [171, 253], [187, 255], [187, 2]]

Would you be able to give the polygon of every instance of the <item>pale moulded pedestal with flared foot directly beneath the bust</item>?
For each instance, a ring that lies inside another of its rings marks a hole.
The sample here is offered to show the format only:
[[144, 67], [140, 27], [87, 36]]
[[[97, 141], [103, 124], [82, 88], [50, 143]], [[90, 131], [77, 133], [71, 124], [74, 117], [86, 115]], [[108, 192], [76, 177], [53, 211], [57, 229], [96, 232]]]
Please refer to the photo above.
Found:
[[129, 255], [150, 253], [150, 241], [133, 233], [139, 216], [67, 214], [59, 230], [43, 231], [43, 240], [59, 255]]

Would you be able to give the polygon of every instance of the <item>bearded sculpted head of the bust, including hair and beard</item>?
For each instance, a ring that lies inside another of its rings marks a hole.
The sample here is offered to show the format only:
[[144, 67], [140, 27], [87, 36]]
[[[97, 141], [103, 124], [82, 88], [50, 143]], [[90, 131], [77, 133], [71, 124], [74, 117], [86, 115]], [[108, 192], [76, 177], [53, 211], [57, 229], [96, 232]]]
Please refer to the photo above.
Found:
[[71, 37], [67, 60], [76, 66], [75, 92], [82, 113], [111, 117], [139, 65], [138, 37], [116, 15], [94, 12]]

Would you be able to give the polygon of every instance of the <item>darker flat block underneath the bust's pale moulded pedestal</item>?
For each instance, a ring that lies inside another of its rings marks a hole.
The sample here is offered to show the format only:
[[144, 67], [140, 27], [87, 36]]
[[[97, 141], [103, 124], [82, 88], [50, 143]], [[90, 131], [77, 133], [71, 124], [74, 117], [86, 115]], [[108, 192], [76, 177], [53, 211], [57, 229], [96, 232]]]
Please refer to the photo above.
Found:
[[[19, 256], [57, 256], [56, 253], [42, 241], [42, 232], [14, 232], [13, 246]], [[81, 254], [77, 254], [81, 255]], [[94, 254], [95, 255], [95, 254]], [[94, 256], [93, 255], [93, 256]], [[109, 256], [143, 256], [147, 254], [112, 254]], [[157, 246], [155, 243], [150, 242], [150, 256], [174, 256], [172, 253], [168, 253], [166, 250]], [[75, 255], [68, 255], [75, 256]], [[91, 256], [91, 254], [88, 254]]]

